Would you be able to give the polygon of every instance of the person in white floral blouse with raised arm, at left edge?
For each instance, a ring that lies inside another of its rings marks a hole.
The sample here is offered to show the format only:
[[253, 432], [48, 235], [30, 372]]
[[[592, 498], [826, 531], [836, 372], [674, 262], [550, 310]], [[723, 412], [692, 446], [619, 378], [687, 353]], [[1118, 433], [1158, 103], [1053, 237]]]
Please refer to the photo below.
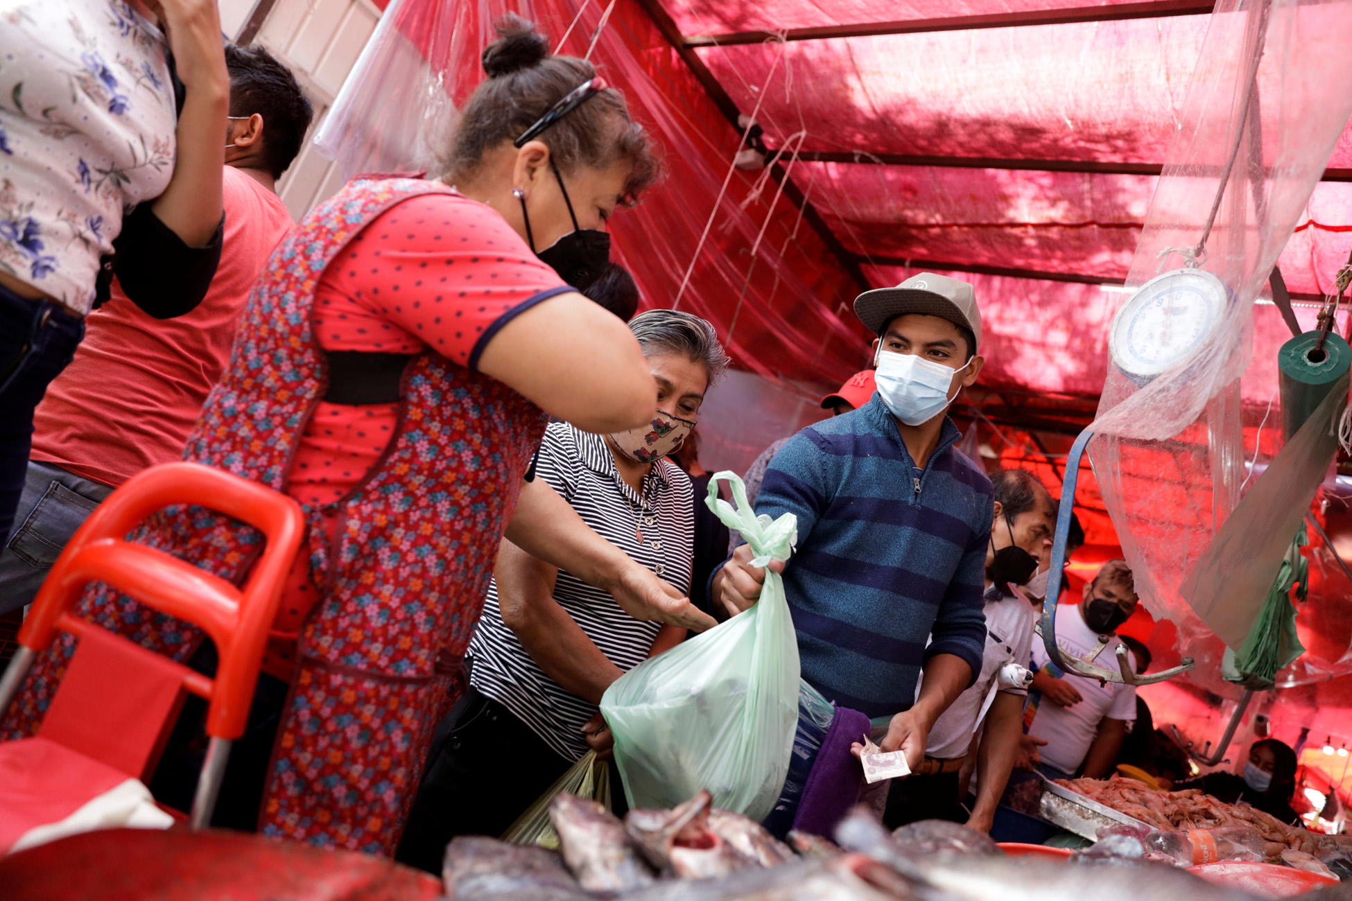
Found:
[[114, 272], [153, 316], [185, 313], [206, 294], [220, 257], [230, 80], [215, 0], [18, 0], [0, 22], [8, 535], [32, 411]]

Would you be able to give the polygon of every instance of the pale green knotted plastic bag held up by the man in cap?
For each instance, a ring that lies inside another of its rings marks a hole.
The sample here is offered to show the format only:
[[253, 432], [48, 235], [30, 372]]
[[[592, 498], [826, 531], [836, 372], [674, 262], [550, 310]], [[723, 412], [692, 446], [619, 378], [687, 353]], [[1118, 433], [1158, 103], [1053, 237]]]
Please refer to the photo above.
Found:
[[[735, 509], [719, 500], [719, 480], [731, 485]], [[756, 566], [788, 559], [798, 519], [757, 517], [737, 474], [714, 475], [707, 504], [742, 534]], [[714, 806], [765, 819], [788, 773], [798, 682], [784, 582], [767, 573], [749, 611], [639, 663], [606, 689], [600, 709], [615, 735], [629, 806], [672, 808], [708, 789]]]

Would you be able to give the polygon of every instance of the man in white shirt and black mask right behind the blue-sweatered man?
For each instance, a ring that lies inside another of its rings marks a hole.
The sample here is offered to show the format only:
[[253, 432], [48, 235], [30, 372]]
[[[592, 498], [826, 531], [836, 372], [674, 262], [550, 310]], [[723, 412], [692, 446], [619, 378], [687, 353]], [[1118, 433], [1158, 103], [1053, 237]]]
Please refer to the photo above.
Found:
[[[1009, 586], [1028, 582], [1051, 554], [1056, 504], [1028, 470], [996, 473], [991, 485], [995, 516], [986, 548], [982, 670], [934, 723], [921, 766], [892, 782], [884, 813], [888, 828], [940, 819], [990, 832], [1014, 769], [1030, 675], [1025, 667], [1033, 643], [1033, 608]], [[959, 774], [973, 750], [980, 782], [968, 816], [960, 804]]]

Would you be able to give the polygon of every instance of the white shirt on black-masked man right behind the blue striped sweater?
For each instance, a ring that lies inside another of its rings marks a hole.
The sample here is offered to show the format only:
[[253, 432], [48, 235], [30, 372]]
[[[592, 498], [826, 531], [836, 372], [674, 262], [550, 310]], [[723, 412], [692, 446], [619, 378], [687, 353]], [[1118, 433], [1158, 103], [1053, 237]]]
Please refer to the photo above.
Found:
[[[1033, 644], [1033, 608], [1022, 598], [1000, 594], [992, 586], [986, 592], [984, 612], [986, 650], [982, 652], [982, 671], [934, 723], [925, 746], [929, 756], [949, 761], [967, 754], [1000, 669], [1007, 663], [1028, 666]], [[1026, 694], [1023, 689], [1000, 692]]]

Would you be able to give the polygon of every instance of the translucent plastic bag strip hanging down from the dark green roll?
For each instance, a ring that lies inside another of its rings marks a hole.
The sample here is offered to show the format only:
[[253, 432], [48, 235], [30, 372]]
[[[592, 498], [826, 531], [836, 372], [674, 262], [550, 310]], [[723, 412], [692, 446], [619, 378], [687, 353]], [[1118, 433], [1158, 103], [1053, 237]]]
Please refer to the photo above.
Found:
[[[1303, 338], [1293, 338], [1288, 344]], [[1328, 340], [1334, 338], [1330, 335]], [[1314, 390], [1322, 390], [1324, 397], [1225, 520], [1180, 586], [1202, 623], [1232, 648], [1242, 647], [1253, 629], [1291, 536], [1310, 509], [1338, 447], [1338, 420], [1347, 407], [1352, 362], [1347, 343], [1338, 340], [1345, 354], [1341, 373], [1326, 388], [1305, 382], [1307, 388], [1295, 389], [1298, 400], [1307, 401], [1306, 392]], [[1330, 355], [1336, 347], [1330, 347]], [[1318, 366], [1322, 361], [1307, 362]], [[1283, 367], [1283, 378], [1286, 371]]]

